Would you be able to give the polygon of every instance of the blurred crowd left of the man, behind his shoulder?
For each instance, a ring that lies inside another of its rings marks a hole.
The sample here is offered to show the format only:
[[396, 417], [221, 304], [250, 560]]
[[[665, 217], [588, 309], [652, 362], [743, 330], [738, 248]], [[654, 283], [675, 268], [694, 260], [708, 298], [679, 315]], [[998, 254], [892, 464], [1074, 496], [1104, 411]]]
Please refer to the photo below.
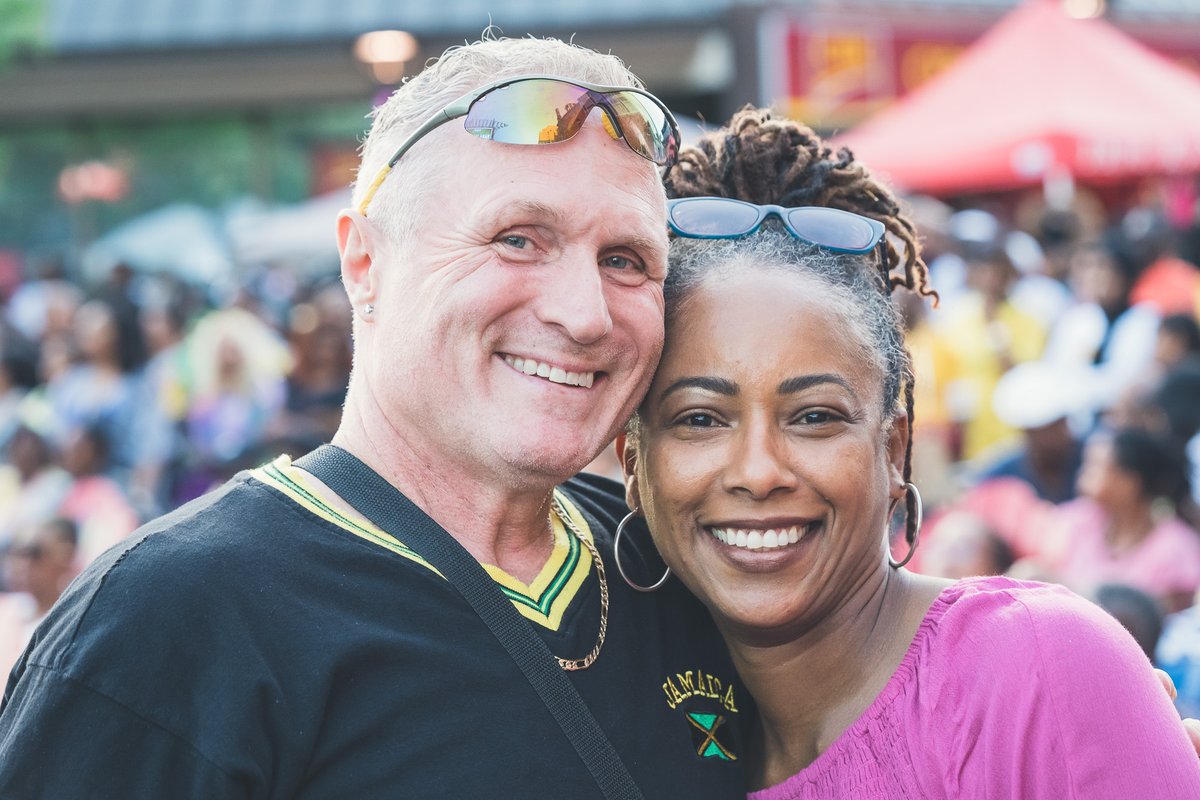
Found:
[[124, 264], [101, 285], [56, 261], [25, 269], [0, 287], [5, 673], [66, 584], [137, 525], [328, 441], [350, 371], [336, 277], [268, 270], [217, 290]]

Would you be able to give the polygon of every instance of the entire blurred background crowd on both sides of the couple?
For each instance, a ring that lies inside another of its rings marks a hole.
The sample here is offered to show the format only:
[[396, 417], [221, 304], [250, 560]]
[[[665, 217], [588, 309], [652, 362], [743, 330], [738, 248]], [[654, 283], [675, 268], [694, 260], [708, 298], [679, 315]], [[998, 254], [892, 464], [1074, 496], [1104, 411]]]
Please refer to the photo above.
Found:
[[[914, 359], [913, 566], [1064, 583], [1121, 619], [1200, 716], [1200, 225], [913, 200], [940, 299]], [[1026, 215], [1028, 216], [1028, 215]], [[181, 243], [186, 247], [186, 243]], [[138, 524], [337, 428], [336, 276], [235, 289], [118, 264], [0, 276], [0, 669]], [[594, 471], [617, 474], [612, 453]], [[252, 525], [247, 521], [247, 525]]]

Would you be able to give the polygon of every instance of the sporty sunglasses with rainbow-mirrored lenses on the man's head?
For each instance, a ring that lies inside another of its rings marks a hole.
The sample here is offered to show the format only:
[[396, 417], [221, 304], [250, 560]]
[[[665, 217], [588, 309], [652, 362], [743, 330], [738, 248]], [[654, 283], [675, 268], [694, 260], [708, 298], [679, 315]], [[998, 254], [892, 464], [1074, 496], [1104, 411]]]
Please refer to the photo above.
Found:
[[467, 133], [504, 144], [566, 142], [583, 127], [592, 109], [602, 113], [605, 131], [624, 139], [629, 149], [660, 167], [674, 163], [679, 126], [658, 97], [628, 86], [598, 86], [553, 76], [505, 78], [467, 92], [434, 114], [404, 139], [371, 182], [359, 213], [379, 190], [388, 173], [425, 134], [460, 116]]

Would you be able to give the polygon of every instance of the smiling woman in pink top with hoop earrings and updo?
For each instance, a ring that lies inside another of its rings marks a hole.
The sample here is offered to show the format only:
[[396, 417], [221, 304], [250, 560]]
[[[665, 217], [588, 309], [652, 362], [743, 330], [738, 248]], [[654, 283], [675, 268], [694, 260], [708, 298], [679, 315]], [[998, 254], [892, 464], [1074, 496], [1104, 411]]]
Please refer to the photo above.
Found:
[[667, 185], [856, 211], [905, 243], [882, 246], [888, 266], [902, 259], [893, 275], [872, 254], [877, 223], [864, 240], [864, 223], [800, 212], [751, 233], [772, 210], [672, 207], [677, 233], [698, 237], [672, 245], [666, 349], [620, 445], [626, 495], [756, 700], [751, 796], [1200, 796], [1174, 710], [1102, 610], [892, 559], [889, 515], [907, 500], [911, 554], [920, 503], [889, 295], [929, 293], [892, 196], [848, 154], [754, 110]]

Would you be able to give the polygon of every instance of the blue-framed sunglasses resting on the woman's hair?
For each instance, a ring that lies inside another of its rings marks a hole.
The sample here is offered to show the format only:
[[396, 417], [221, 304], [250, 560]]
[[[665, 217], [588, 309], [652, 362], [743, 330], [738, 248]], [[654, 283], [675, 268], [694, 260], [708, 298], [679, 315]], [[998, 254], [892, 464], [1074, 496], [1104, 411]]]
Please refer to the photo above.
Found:
[[778, 217], [794, 237], [838, 253], [870, 253], [883, 237], [877, 219], [823, 206], [755, 205], [726, 197], [667, 200], [667, 224], [688, 239], [742, 239]]

